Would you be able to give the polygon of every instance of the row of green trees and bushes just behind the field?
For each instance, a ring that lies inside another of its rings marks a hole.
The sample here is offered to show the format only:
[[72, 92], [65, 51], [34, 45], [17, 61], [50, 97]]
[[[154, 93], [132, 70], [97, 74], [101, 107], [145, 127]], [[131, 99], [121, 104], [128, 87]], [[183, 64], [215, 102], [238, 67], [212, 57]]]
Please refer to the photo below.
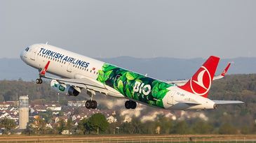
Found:
[[[164, 116], [159, 116], [156, 121], [147, 121], [142, 123], [140, 119], [133, 117], [130, 122], [116, 121], [108, 123], [103, 114], [97, 113], [88, 119], [82, 119], [75, 124], [71, 118], [65, 121], [60, 119], [56, 123], [51, 123], [41, 118], [35, 118], [29, 121], [27, 130], [23, 134], [27, 135], [88, 135], [88, 134], [254, 134], [256, 125], [250, 128], [236, 128], [231, 123], [222, 123], [219, 127], [214, 126], [209, 121], [201, 119], [173, 121]], [[1, 128], [5, 128], [4, 133], [8, 134], [10, 130], [17, 127], [11, 119], [1, 119]]]

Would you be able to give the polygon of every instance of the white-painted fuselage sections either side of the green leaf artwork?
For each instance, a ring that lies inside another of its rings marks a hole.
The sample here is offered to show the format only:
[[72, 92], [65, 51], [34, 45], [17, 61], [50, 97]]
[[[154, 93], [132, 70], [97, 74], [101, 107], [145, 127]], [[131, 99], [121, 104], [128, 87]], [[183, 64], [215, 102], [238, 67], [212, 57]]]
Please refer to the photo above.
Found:
[[[29, 66], [39, 70], [46, 66], [50, 61], [47, 72], [60, 77], [70, 79], [82, 79], [88, 77], [92, 80], [97, 79], [97, 71], [104, 64], [102, 61], [85, 57], [81, 54], [69, 52], [58, 47], [46, 44], [35, 44], [29, 46], [29, 50], [25, 50], [20, 55], [22, 61], [25, 61]], [[126, 98], [119, 91], [116, 91], [110, 86], [106, 86], [105, 91], [109, 96]], [[163, 98], [163, 107], [169, 110], [204, 110], [213, 109], [215, 103], [202, 96], [197, 96], [180, 89], [177, 86], [170, 86], [170, 91]], [[191, 104], [188, 104], [191, 101]], [[186, 103], [184, 103], [186, 102]], [[192, 104], [198, 103], [198, 105]]]

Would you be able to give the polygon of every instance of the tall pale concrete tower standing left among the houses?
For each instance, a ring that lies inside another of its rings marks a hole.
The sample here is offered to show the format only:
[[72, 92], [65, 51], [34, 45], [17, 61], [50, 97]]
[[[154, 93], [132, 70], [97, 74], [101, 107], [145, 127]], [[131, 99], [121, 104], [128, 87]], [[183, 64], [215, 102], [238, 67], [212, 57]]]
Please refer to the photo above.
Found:
[[20, 96], [19, 99], [19, 126], [20, 129], [26, 129], [29, 122], [29, 97]]

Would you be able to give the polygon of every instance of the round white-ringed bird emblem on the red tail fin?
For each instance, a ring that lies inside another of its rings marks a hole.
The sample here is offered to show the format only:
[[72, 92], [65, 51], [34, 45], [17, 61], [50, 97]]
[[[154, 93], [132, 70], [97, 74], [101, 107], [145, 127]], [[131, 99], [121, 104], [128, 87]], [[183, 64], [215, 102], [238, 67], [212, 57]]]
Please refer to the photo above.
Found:
[[198, 96], [205, 95], [210, 90], [211, 77], [208, 69], [204, 66], [198, 70], [198, 75], [192, 77], [190, 80], [190, 86], [193, 93]]

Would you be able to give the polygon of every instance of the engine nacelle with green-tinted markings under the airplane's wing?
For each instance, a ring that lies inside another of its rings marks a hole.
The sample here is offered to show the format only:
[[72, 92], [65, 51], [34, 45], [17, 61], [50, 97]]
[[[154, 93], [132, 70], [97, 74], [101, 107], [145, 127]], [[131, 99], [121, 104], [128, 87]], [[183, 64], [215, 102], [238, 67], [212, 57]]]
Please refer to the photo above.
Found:
[[55, 91], [58, 91], [60, 93], [68, 94], [69, 96], [78, 96], [79, 93], [81, 93], [81, 90], [79, 88], [73, 87], [73, 86], [70, 86], [70, 85], [66, 85], [66, 84], [60, 84], [56, 80], [52, 80], [50, 82], [50, 86]]

